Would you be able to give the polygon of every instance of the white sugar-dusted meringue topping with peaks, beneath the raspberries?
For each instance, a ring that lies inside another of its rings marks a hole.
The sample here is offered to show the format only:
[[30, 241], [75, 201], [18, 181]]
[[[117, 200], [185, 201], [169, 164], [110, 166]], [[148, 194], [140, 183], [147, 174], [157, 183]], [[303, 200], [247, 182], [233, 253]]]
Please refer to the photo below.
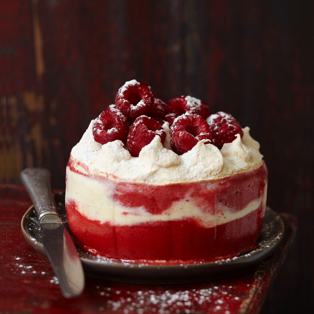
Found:
[[217, 180], [256, 169], [263, 163], [259, 143], [250, 136], [249, 127], [243, 129], [242, 139], [237, 135], [232, 143], [224, 144], [221, 150], [212, 144], [205, 144], [208, 140], [203, 140], [179, 156], [170, 149], [169, 124], [166, 122], [163, 125], [167, 133], [164, 146], [160, 137], [156, 136], [141, 150], [139, 157], [132, 157], [119, 140], [104, 145], [95, 142], [93, 123], [94, 120], [71, 151], [73, 166], [92, 176], [165, 185]]

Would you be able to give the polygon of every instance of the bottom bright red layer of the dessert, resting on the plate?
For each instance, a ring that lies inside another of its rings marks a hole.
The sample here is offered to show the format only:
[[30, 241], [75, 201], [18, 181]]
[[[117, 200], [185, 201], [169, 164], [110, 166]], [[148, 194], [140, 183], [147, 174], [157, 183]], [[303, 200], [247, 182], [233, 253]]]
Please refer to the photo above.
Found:
[[194, 219], [156, 221], [137, 225], [100, 224], [67, 203], [68, 222], [84, 251], [123, 260], [214, 261], [256, 247], [263, 224], [262, 204], [246, 216], [204, 228]]

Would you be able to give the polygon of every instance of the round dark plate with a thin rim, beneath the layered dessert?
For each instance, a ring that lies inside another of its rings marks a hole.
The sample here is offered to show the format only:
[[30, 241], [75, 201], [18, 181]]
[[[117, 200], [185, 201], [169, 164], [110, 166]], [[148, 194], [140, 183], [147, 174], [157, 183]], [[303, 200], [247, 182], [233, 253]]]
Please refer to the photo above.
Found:
[[[55, 199], [62, 222], [70, 232], [64, 205], [64, 193], [55, 194]], [[41, 241], [41, 228], [34, 206], [31, 206], [24, 214], [21, 228], [25, 240], [46, 258], [46, 252]], [[102, 259], [86, 253], [78, 247], [77, 250], [85, 274], [90, 277], [143, 284], [192, 283], [240, 273], [251, 265], [262, 261], [278, 247], [284, 236], [284, 230], [284, 222], [281, 217], [267, 207], [262, 232], [257, 240], [257, 248], [233, 258], [209, 263], [134, 264], [127, 261], [117, 262]]]

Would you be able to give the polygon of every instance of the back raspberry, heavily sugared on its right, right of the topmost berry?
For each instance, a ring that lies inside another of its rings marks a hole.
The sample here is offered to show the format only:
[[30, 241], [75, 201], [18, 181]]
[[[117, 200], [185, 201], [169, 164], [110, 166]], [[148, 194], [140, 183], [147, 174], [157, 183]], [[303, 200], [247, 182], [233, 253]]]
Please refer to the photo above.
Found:
[[[203, 103], [204, 104], [204, 103]], [[169, 112], [182, 114], [201, 115], [201, 100], [191, 96], [179, 96], [168, 100], [167, 109]], [[205, 106], [205, 105], [204, 105]]]

